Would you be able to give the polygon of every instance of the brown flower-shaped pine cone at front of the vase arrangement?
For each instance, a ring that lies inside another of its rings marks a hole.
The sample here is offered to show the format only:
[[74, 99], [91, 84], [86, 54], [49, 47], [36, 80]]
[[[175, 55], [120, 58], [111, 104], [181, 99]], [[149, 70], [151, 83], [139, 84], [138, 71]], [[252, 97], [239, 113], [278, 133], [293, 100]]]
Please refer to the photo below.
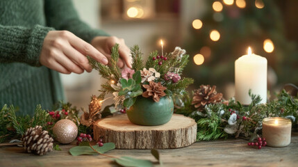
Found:
[[165, 96], [164, 90], [167, 89], [163, 87], [160, 82], [156, 84], [154, 81], [150, 81], [149, 85], [143, 85], [143, 87], [147, 90], [142, 94], [142, 96], [146, 98], [152, 96], [154, 102], [159, 102], [160, 97]]

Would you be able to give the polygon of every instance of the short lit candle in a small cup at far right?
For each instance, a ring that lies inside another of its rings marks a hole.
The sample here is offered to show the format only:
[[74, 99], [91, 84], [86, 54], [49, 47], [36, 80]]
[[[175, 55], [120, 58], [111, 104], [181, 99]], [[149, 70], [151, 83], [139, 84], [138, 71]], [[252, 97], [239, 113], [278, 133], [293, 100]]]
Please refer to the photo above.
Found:
[[291, 120], [280, 117], [264, 118], [262, 126], [262, 136], [267, 145], [285, 147], [291, 143]]

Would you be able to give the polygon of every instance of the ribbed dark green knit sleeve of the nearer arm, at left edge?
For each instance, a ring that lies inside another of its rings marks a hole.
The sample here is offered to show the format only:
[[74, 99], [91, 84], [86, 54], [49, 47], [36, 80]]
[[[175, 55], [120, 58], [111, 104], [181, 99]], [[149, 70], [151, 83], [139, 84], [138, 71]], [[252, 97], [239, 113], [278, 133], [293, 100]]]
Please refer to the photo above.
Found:
[[54, 29], [40, 25], [25, 28], [0, 24], [0, 62], [40, 66], [42, 43], [47, 33], [52, 30]]

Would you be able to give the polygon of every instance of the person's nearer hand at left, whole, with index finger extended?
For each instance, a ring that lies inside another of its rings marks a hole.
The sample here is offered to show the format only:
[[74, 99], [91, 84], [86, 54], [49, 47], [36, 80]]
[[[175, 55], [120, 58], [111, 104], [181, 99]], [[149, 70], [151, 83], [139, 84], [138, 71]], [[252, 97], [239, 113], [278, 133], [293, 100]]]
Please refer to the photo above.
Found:
[[108, 59], [88, 42], [69, 31], [49, 31], [42, 44], [40, 63], [63, 74], [92, 71], [88, 58], [108, 64]]

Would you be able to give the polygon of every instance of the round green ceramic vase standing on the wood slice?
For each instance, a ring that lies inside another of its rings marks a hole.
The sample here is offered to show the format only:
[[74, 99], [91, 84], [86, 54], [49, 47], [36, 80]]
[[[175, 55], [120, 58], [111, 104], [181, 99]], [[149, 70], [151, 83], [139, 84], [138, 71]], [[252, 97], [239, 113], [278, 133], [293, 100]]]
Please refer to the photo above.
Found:
[[135, 104], [126, 111], [129, 120], [136, 125], [163, 125], [172, 118], [174, 104], [171, 97], [162, 97], [159, 102], [138, 96]]

